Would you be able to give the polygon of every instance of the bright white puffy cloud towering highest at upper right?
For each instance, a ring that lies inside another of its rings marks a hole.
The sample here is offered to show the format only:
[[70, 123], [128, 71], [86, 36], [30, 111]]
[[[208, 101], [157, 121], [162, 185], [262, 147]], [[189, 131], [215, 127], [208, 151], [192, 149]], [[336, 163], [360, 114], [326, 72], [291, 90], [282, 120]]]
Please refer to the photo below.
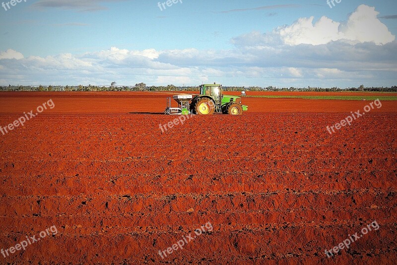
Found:
[[292, 25], [278, 27], [273, 33], [278, 34], [287, 45], [321, 45], [337, 40], [383, 45], [394, 41], [396, 37], [378, 19], [378, 14], [375, 7], [362, 4], [342, 23], [325, 16], [313, 23], [312, 16], [300, 18]]

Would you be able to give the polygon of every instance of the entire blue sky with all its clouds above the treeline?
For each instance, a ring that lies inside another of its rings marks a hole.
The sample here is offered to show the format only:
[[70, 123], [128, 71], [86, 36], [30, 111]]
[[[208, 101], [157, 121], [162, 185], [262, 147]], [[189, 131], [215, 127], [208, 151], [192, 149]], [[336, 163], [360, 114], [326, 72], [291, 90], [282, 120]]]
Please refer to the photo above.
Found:
[[1, 7], [0, 84], [397, 85], [395, 0], [175, 2]]

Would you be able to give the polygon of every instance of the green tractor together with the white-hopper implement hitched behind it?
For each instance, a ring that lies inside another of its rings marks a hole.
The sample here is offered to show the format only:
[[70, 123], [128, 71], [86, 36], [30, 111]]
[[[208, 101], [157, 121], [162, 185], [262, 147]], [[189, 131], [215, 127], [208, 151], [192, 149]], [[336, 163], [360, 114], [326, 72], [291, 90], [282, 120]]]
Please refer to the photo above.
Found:
[[171, 108], [171, 98], [167, 98], [165, 114], [187, 115], [212, 115], [222, 113], [229, 115], [242, 115], [248, 110], [248, 106], [241, 104], [238, 96], [224, 95], [222, 85], [203, 84], [200, 85], [199, 95], [174, 95], [173, 99], [178, 103], [178, 108]]

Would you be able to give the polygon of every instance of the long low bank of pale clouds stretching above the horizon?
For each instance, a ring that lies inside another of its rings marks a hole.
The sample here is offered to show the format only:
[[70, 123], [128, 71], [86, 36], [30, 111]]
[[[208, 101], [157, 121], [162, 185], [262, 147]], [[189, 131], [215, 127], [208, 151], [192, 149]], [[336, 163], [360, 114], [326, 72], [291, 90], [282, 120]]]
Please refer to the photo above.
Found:
[[219, 51], [130, 51], [113, 47], [82, 55], [28, 58], [13, 51], [20, 54], [18, 60], [6, 59], [12, 58], [10, 52], [0, 59], [0, 81], [1, 84], [64, 85], [104, 85], [116, 80], [121, 85], [137, 82], [197, 85], [219, 81], [230, 85], [357, 86], [367, 80], [395, 85], [392, 81], [396, 79], [396, 50], [396, 41], [384, 46], [336, 41], [274, 49], [251, 43], [249, 49]]

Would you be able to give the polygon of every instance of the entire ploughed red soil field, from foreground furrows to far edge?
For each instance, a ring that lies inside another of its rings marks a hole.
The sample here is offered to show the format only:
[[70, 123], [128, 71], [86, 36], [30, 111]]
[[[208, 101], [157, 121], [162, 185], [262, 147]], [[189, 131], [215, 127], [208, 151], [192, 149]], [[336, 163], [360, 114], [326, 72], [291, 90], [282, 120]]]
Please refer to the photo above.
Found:
[[162, 133], [167, 95], [0, 93], [2, 127], [55, 104], [0, 133], [0, 248], [58, 231], [1, 264], [396, 264], [396, 102], [330, 134], [369, 102], [245, 98]]

